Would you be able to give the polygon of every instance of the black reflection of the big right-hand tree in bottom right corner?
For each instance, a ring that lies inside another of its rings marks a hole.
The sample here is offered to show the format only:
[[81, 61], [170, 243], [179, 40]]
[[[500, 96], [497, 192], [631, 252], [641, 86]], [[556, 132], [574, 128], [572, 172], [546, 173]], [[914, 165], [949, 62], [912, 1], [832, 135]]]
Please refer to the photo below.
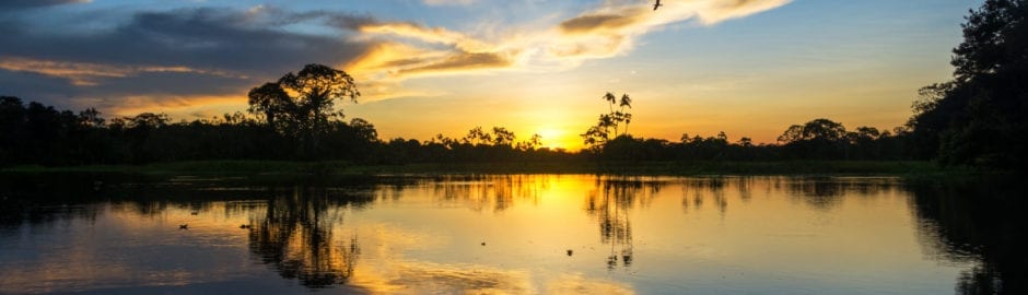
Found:
[[942, 261], [978, 266], [958, 278], [958, 294], [1026, 294], [1024, 182], [947, 179], [909, 186], [922, 244]]

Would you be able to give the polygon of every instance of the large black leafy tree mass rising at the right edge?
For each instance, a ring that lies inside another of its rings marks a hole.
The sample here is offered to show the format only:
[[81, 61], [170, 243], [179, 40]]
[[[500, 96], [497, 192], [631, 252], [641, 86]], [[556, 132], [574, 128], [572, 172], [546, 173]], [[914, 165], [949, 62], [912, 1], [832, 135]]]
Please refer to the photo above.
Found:
[[1028, 0], [985, 0], [954, 48], [954, 79], [922, 88], [908, 122], [946, 165], [1028, 167]]

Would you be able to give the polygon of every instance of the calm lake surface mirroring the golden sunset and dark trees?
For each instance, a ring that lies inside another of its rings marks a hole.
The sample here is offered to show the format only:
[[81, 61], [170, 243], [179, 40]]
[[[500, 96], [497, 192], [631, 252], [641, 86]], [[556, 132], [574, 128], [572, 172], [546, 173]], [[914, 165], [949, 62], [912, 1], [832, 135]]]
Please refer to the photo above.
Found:
[[1021, 202], [979, 184], [514, 175], [261, 186], [79, 178], [4, 182], [0, 293], [1023, 290]]

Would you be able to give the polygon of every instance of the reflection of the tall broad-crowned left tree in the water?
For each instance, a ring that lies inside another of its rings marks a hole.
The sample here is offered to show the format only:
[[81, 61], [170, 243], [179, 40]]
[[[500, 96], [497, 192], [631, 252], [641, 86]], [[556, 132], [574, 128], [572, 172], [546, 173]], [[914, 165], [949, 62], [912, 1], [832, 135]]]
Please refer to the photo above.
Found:
[[266, 213], [249, 228], [250, 250], [272, 266], [282, 278], [296, 279], [307, 287], [346, 284], [361, 253], [354, 235], [332, 238], [342, 224], [343, 210], [374, 200], [371, 192], [295, 188], [276, 192]]

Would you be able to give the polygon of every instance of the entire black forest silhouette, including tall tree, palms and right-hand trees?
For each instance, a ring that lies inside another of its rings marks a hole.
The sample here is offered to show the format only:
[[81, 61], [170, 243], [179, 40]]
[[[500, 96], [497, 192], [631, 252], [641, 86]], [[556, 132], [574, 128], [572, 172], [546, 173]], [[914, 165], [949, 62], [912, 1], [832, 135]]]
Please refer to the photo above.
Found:
[[247, 113], [173, 122], [165, 114], [103, 118], [95, 108], [58, 110], [0, 96], [0, 166], [147, 164], [202, 160], [349, 161], [365, 164], [581, 161], [936, 160], [951, 166], [1023, 169], [1028, 121], [1028, 3], [988, 0], [962, 25], [951, 81], [926, 86], [902, 127], [878, 130], [816, 118], [790, 126], [778, 143], [754, 144], [682, 133], [679, 141], [629, 133], [632, 99], [601, 96], [609, 114], [582, 134], [577, 152], [540, 148], [504, 127], [463, 138], [379, 139], [374, 125], [349, 121], [336, 104], [357, 102], [342, 70], [307, 64], [248, 93]]

